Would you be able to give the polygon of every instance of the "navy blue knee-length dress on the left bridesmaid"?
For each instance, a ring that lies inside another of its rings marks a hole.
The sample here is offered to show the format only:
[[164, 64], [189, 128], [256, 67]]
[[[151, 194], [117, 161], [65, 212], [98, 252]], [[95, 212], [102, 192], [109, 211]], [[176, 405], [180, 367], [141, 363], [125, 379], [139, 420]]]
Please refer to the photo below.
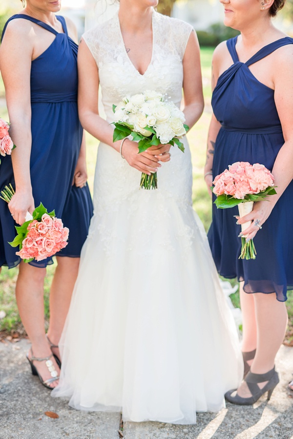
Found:
[[[83, 128], [77, 109], [77, 50], [67, 33], [63, 17], [57, 16], [64, 33], [24, 14], [13, 19], [32, 21], [56, 37], [51, 45], [31, 63], [31, 132], [30, 175], [35, 206], [40, 202], [69, 228], [67, 246], [58, 256], [79, 257], [93, 212], [89, 188], [72, 186], [74, 170], [82, 143]], [[2, 37], [5, 33], [6, 25]], [[0, 190], [14, 186], [11, 157], [1, 158]], [[0, 200], [0, 266], [9, 268], [21, 259], [8, 241], [15, 236], [15, 222], [7, 203]], [[52, 264], [52, 258], [30, 262], [37, 267]]]

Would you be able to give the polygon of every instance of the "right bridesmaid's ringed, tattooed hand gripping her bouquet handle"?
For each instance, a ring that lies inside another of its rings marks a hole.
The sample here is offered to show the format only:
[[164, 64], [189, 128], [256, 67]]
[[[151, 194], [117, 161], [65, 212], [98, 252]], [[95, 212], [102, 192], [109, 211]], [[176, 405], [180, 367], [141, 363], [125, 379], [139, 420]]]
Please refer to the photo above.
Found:
[[272, 201], [257, 201], [253, 204], [252, 212], [240, 218], [240, 216], [236, 216], [237, 224], [244, 224], [247, 221], [252, 221], [250, 227], [241, 232], [242, 235], [247, 235], [246, 240], [250, 241], [256, 233], [262, 228], [264, 223], [269, 218], [272, 209], [274, 207], [274, 203]]

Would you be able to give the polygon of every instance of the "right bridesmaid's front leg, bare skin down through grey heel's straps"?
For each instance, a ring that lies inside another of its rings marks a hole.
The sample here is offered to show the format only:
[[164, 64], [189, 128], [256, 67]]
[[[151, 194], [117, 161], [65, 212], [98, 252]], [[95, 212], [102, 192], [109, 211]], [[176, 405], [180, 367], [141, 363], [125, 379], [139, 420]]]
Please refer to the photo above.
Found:
[[[254, 297], [257, 344], [256, 354], [251, 364], [253, 374], [265, 374], [274, 367], [275, 356], [283, 342], [288, 314], [284, 302], [278, 302], [275, 294], [255, 293]], [[268, 381], [258, 384], [262, 389]], [[251, 397], [245, 381], [237, 390], [240, 397]]]

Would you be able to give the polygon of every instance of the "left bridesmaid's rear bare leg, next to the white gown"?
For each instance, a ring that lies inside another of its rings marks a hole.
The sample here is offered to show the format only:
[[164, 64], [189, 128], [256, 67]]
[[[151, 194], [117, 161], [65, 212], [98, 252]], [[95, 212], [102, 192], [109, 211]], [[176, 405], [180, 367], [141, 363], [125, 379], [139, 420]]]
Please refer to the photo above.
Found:
[[[58, 345], [63, 330], [80, 258], [57, 257], [57, 262], [50, 290], [50, 324], [48, 329], [48, 338], [54, 345]], [[53, 348], [53, 352], [60, 358], [58, 348]]]

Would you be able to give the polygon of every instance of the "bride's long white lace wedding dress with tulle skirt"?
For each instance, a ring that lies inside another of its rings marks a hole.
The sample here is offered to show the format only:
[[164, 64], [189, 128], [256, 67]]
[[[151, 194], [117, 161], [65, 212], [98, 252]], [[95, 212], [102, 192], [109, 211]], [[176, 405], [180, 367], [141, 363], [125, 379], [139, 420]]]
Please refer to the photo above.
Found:
[[[191, 26], [153, 13], [153, 53], [144, 75], [131, 63], [118, 15], [87, 31], [103, 104], [144, 90], [180, 105]], [[192, 209], [192, 169], [172, 147], [158, 189], [100, 144], [95, 212], [61, 340], [60, 385], [52, 396], [82, 410], [122, 411], [125, 420], [192, 424], [218, 411], [237, 387], [242, 356], [204, 228]], [[72, 239], [72, 238], [71, 238]], [[73, 237], [74, 239], [74, 237]]]

